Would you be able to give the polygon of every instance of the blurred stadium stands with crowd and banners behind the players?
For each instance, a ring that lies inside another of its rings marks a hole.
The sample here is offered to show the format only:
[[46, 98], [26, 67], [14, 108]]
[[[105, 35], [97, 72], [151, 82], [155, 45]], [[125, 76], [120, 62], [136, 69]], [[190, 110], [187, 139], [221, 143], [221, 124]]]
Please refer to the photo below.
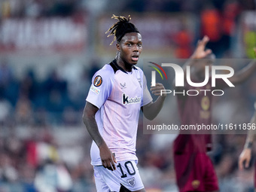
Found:
[[[112, 14], [130, 14], [142, 33], [139, 66], [148, 57], [186, 59], [203, 35], [218, 59], [254, 58], [254, 0], [1, 0], [0, 10], [1, 192], [96, 191], [81, 116], [93, 74], [115, 56], [105, 35]], [[216, 99], [215, 122], [248, 123], [255, 82], [256, 75]], [[147, 191], [177, 191], [171, 137], [139, 126]], [[254, 191], [254, 166], [237, 169], [244, 142], [245, 135], [214, 136], [221, 191]]]

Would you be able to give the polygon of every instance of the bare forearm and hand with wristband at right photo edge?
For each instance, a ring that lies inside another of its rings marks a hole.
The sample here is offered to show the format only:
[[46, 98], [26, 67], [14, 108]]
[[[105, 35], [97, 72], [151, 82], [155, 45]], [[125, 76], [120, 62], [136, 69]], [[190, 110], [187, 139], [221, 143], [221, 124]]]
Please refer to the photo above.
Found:
[[[256, 104], [256, 102], [255, 102]], [[256, 123], [256, 110], [254, 111], [254, 115], [251, 118], [251, 123]], [[251, 147], [254, 140], [254, 132], [255, 130], [248, 130], [245, 146], [242, 150], [242, 153], [239, 156], [239, 169], [242, 170], [244, 167], [248, 168], [250, 160], [251, 160]]]

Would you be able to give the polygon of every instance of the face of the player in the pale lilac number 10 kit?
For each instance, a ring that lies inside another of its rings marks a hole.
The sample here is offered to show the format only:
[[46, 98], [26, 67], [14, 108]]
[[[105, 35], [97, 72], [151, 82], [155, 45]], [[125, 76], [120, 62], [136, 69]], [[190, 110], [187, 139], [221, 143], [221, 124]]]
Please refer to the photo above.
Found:
[[120, 51], [120, 59], [124, 64], [136, 65], [142, 53], [142, 35], [138, 32], [126, 33], [120, 44], [117, 44], [117, 50]]

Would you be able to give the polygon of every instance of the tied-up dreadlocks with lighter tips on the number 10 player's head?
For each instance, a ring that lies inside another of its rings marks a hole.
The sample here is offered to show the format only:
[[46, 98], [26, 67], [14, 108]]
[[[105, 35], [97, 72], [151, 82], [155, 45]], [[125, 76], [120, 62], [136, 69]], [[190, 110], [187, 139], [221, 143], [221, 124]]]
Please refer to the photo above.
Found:
[[110, 32], [108, 34], [108, 37], [114, 35], [114, 40], [111, 42], [111, 44], [113, 44], [115, 40], [117, 40], [117, 42], [120, 42], [120, 40], [123, 38], [123, 35], [125, 35], [128, 32], [139, 32], [136, 26], [134, 26], [133, 23], [129, 22], [131, 20], [130, 15], [128, 16], [128, 19], [126, 19], [126, 17], [115, 16], [113, 14], [111, 19], [118, 20], [117, 23], [114, 23], [114, 25], [111, 26], [107, 32], [105, 32]]

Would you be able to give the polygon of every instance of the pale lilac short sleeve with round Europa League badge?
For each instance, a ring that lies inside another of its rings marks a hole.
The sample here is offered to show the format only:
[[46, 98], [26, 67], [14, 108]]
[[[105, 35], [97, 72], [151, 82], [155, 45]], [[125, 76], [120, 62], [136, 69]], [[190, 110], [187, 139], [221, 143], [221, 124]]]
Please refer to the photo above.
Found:
[[101, 108], [111, 93], [111, 71], [107, 69], [100, 69], [93, 75], [92, 84], [87, 95], [87, 102]]

